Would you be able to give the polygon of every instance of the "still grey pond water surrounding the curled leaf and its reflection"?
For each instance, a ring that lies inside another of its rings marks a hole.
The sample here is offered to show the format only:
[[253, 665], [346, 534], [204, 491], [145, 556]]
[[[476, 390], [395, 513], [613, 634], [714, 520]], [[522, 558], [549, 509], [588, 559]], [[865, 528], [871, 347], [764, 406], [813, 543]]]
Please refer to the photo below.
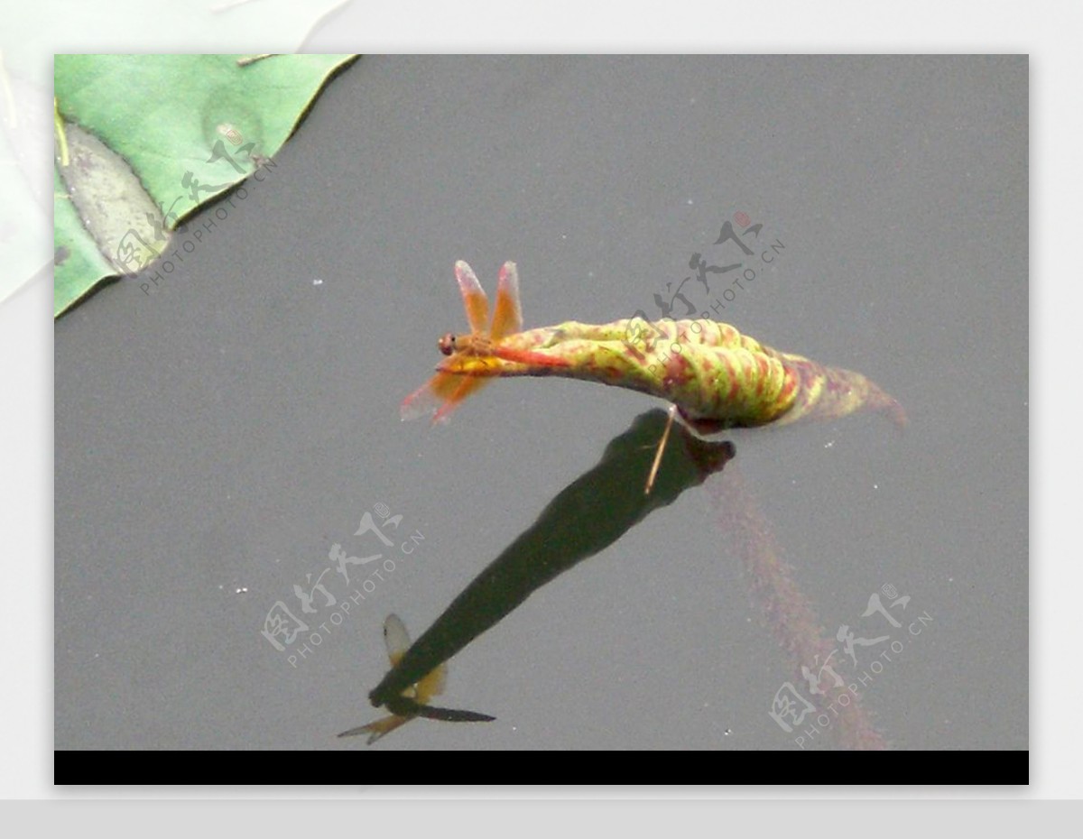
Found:
[[[1025, 56], [362, 58], [157, 287], [56, 324], [56, 748], [364, 750], [335, 735], [380, 716], [386, 616], [420, 634], [661, 405], [520, 379], [401, 423], [466, 329], [457, 259], [491, 293], [516, 260], [526, 327], [657, 317], [691, 276], [695, 307], [895, 395], [905, 432], [734, 432], [735, 463], [828, 637], [909, 595], [902, 652], [858, 647], [893, 747], [1026, 748], [1027, 91]], [[727, 222], [762, 225], [753, 257]], [[708, 294], [693, 253], [755, 278]], [[796, 749], [708, 488], [451, 660], [440, 704], [495, 722], [374, 749]], [[382, 555], [347, 585], [334, 546]], [[309, 625], [280, 651], [276, 603]]]

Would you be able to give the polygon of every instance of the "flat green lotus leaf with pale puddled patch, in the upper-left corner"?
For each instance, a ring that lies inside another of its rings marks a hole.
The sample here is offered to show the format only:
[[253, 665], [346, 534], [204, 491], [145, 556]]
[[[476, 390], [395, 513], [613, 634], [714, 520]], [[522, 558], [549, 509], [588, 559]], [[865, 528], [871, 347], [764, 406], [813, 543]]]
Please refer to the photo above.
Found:
[[58, 316], [167, 252], [282, 148], [350, 55], [57, 55]]

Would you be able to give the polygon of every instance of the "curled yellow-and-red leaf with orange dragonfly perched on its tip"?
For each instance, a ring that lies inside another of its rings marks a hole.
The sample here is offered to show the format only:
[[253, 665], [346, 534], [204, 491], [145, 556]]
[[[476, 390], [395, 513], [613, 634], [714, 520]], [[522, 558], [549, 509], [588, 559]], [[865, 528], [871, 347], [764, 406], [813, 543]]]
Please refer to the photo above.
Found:
[[899, 425], [906, 422], [899, 403], [862, 373], [773, 350], [717, 320], [569, 320], [522, 331], [513, 262], [500, 268], [486, 329], [488, 300], [478, 277], [461, 260], [455, 263], [455, 276], [471, 331], [440, 339], [445, 358], [405, 398], [403, 419], [431, 414], [433, 422], [444, 421], [468, 396], [504, 377], [557, 376], [657, 396], [671, 407], [648, 493], [677, 416], [708, 435], [730, 428], [835, 419], [859, 409], [877, 410]]

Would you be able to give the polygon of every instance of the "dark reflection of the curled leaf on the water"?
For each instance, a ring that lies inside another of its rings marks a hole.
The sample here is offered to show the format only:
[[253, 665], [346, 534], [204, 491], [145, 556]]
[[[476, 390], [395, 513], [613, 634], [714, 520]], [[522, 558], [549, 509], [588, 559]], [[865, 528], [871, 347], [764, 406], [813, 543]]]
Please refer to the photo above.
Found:
[[608, 548], [652, 511], [673, 503], [733, 457], [729, 441], [703, 441], [677, 423], [651, 494], [645, 495], [647, 476], [665, 424], [665, 411], [648, 411], [615, 437], [598, 464], [564, 488], [410, 645], [368, 695], [373, 705], [387, 706], [393, 712], [433, 716], [403, 697], [403, 691], [499, 622], [535, 590]]

